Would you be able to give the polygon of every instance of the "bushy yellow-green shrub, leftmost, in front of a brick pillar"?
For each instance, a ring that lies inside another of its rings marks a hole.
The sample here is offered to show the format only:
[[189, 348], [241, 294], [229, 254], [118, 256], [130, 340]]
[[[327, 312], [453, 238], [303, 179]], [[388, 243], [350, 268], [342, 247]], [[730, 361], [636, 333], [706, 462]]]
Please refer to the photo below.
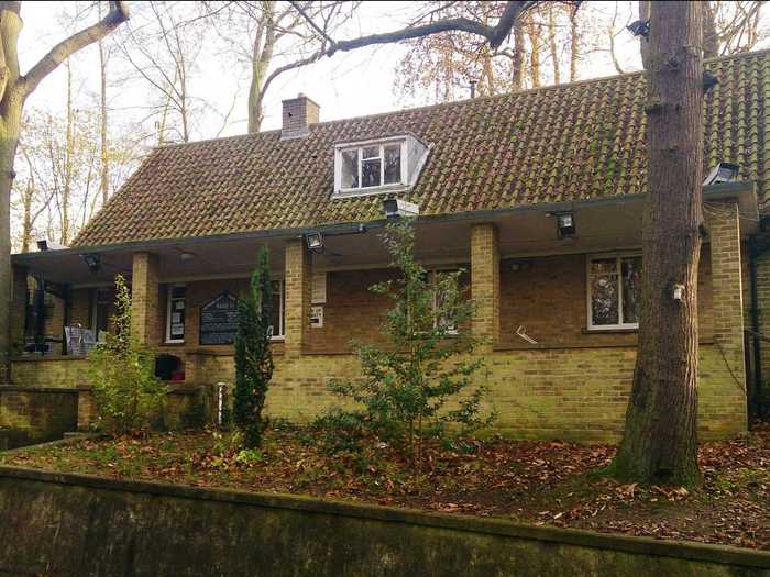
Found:
[[154, 356], [131, 335], [131, 295], [116, 277], [116, 333], [88, 355], [97, 426], [111, 433], [144, 432], [162, 423], [168, 389], [155, 377]]

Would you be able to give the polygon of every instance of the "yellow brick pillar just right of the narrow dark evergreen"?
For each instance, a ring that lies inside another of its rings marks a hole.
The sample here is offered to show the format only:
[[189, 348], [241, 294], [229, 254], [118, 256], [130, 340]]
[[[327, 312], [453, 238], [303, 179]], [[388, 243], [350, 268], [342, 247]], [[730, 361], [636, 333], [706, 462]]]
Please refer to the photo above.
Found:
[[299, 356], [308, 343], [310, 332], [310, 298], [312, 282], [311, 255], [304, 238], [286, 243], [286, 307], [285, 354]]

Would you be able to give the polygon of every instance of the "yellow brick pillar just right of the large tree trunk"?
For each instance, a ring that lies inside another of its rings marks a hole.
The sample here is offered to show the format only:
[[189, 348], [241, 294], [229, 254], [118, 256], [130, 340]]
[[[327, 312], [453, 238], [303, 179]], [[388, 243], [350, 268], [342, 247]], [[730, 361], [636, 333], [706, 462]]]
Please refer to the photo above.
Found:
[[[728, 200], [710, 202], [710, 206], [712, 208], [707, 224], [712, 258], [714, 339], [745, 395], [744, 291], [738, 203], [736, 200]], [[744, 418], [745, 407], [744, 402]]]

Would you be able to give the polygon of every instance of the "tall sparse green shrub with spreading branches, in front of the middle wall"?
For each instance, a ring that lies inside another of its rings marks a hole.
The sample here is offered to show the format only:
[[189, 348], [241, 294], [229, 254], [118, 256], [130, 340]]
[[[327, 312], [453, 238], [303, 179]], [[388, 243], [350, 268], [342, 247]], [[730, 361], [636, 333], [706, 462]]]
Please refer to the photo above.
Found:
[[480, 415], [485, 389], [473, 386], [482, 363], [470, 356], [477, 344], [469, 329], [475, 306], [460, 287], [462, 271], [429, 275], [415, 258], [410, 221], [388, 225], [385, 244], [400, 273], [371, 289], [393, 303], [382, 329], [386, 343], [355, 344], [363, 378], [332, 390], [362, 409], [326, 419], [338, 426], [340, 442], [353, 424], [365, 426], [404, 447], [419, 467], [424, 439], [443, 437], [447, 425], [468, 433], [494, 415]]

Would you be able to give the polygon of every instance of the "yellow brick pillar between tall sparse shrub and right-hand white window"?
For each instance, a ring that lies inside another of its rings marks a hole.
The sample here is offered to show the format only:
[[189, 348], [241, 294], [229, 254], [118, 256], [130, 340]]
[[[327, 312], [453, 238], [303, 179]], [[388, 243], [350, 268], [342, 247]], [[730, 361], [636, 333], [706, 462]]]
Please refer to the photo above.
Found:
[[499, 235], [492, 223], [471, 226], [471, 297], [476, 313], [473, 334], [482, 340], [477, 352], [488, 354], [499, 340]]

